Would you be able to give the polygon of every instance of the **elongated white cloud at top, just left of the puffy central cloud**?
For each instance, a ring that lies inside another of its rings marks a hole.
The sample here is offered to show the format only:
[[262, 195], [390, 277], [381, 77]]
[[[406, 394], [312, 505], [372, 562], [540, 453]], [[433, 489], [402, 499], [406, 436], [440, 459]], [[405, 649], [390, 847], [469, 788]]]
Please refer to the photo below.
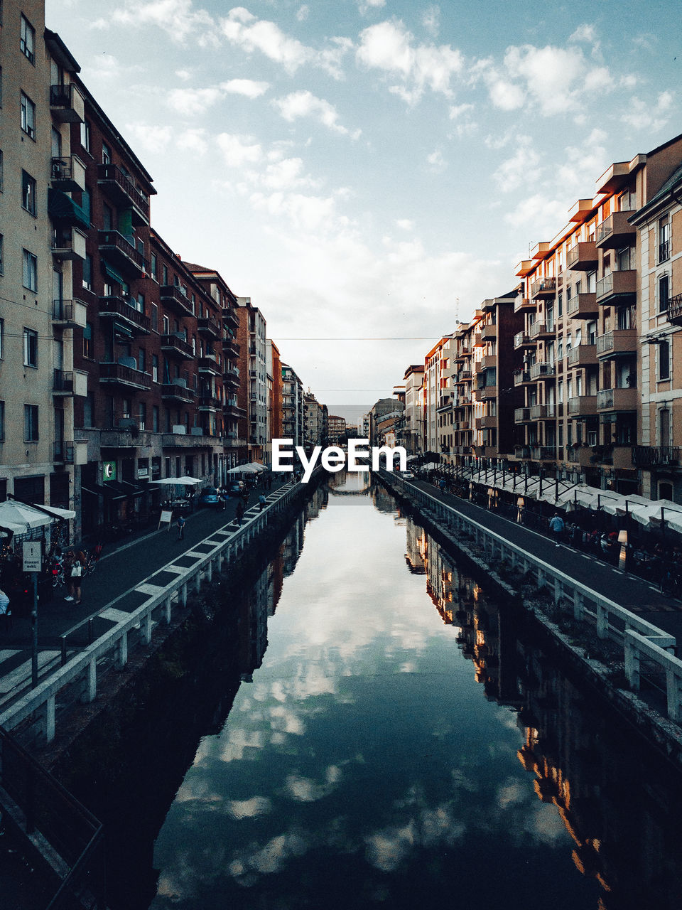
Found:
[[341, 63], [352, 46], [346, 38], [332, 38], [328, 47], [318, 51], [286, 35], [276, 23], [258, 19], [244, 6], [231, 9], [226, 18], [221, 19], [220, 30], [231, 44], [248, 53], [260, 51], [289, 73], [309, 64], [322, 67], [337, 79], [343, 76]]

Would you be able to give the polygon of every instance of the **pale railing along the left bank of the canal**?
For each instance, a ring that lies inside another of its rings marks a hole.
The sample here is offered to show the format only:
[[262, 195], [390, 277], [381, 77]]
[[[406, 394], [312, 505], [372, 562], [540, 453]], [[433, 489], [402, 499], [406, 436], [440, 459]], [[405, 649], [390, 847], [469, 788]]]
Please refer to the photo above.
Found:
[[[313, 476], [316, 476], [319, 470], [322, 469], [318, 467]], [[266, 527], [270, 516], [283, 511], [289, 502], [294, 499], [298, 490], [299, 483], [295, 481], [287, 484], [286, 488], [280, 488], [275, 494], [271, 494], [275, 498], [268, 503], [263, 511], [257, 512], [253, 518], [246, 519], [245, 517], [244, 523], [240, 528], [232, 532], [226, 540], [216, 541], [214, 549], [210, 553], [202, 553], [201, 559], [197, 559], [195, 565], [188, 569], [181, 569], [179, 566], [173, 569], [170, 567], [174, 565], [174, 562], [170, 561], [108, 604], [107, 606], [111, 607], [116, 601], [125, 597], [131, 591], [149, 595], [144, 603], [130, 613], [129, 619], [119, 622], [115, 628], [105, 632], [96, 642], [76, 654], [71, 660], [65, 662], [64, 666], [43, 682], [39, 682], [35, 689], [25, 694], [23, 698], [0, 714], [0, 727], [5, 727], [5, 730], [13, 730], [19, 723], [23, 723], [27, 718], [35, 717], [40, 713], [43, 715], [45, 742], [51, 743], [55, 738], [55, 699], [57, 693], [66, 685], [77, 682], [79, 677], [83, 677], [85, 687], [81, 701], [83, 703], [93, 702], [97, 694], [97, 662], [113, 653], [116, 669], [125, 667], [128, 659], [129, 632], [139, 629], [142, 643], [148, 645], [152, 639], [153, 612], [161, 607], [165, 623], [170, 624], [176, 595], [178, 595], [176, 603], [179, 602], [185, 607], [189, 586], [194, 585], [195, 590], [200, 591], [202, 575], [205, 575], [206, 581], [210, 582], [213, 578], [214, 568], [216, 567], [217, 571], [220, 571], [225, 558], [230, 559], [236, 553], [243, 552], [246, 544], [256, 537], [256, 533]], [[205, 541], [201, 541], [201, 544], [204, 545], [206, 541], [211, 541], [222, 530], [224, 529], [216, 529], [216, 531], [208, 535]], [[188, 551], [188, 553], [191, 552]], [[183, 555], [187, 555], [187, 553]], [[163, 571], [175, 571], [177, 578], [163, 588], [150, 584], [149, 579]], [[152, 591], [151, 589], [154, 590]]]

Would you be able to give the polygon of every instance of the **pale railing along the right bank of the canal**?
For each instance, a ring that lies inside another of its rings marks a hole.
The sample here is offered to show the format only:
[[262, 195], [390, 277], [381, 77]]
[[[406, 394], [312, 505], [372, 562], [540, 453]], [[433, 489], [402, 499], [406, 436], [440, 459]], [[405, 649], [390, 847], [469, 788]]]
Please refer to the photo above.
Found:
[[[477, 521], [467, 518], [452, 506], [437, 500], [426, 490], [415, 484], [408, 484], [393, 472], [381, 470], [379, 473], [386, 480], [395, 482], [399, 489], [409, 492], [417, 501], [429, 506], [436, 512], [436, 516], [454, 525], [456, 531], [473, 533], [476, 543], [483, 546], [486, 555], [492, 558], [491, 561], [498, 556], [500, 561], [508, 559], [513, 568], [520, 565], [524, 572], [535, 571], [538, 588], [547, 586], [554, 595], [555, 603], [562, 597], [572, 601], [574, 618], [578, 621], [589, 619], [595, 622], [598, 638], [610, 637], [622, 642], [627, 683], [634, 692], [638, 692], [640, 687], [642, 659], [646, 658], [653, 662], [658, 671], [666, 673], [667, 716], [677, 723], [682, 721], [682, 660], [672, 653], [677, 644], [675, 636], [659, 629], [652, 622], [641, 619], [635, 613], [593, 591], [581, 581], [571, 578], [516, 544], [506, 541], [495, 531], [490, 531]], [[589, 609], [590, 607], [592, 609]], [[622, 622], [624, 628], [619, 629], [613, 625], [612, 619]]]

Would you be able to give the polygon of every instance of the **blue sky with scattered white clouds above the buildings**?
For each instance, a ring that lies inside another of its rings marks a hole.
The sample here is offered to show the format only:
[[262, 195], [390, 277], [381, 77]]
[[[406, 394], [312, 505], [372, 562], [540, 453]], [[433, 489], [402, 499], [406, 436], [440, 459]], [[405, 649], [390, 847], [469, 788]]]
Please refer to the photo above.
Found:
[[390, 395], [613, 161], [682, 132], [678, 13], [46, 0], [154, 177], [156, 231], [252, 299], [332, 408]]

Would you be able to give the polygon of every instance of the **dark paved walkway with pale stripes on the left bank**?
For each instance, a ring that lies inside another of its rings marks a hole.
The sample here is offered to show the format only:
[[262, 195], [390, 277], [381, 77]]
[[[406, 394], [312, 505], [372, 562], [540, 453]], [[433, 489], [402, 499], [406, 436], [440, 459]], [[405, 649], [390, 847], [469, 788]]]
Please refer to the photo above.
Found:
[[[266, 493], [269, 501], [289, 482], [273, 484], [272, 490], [252, 490], [246, 504], [245, 519], [259, 511], [258, 495]], [[202, 552], [203, 542], [213, 535], [236, 531], [236, 504], [231, 498], [226, 508], [200, 509], [187, 517], [183, 540], [178, 540], [176, 524], [152, 531], [133, 541], [126, 541], [115, 550], [105, 549], [93, 574], [82, 584], [82, 603], [76, 606], [65, 602], [66, 589], [58, 587], [50, 602], [38, 603], [38, 671], [39, 677], [53, 672], [61, 661], [61, 636], [79, 623], [85, 641], [87, 621], [92, 619], [92, 634], [96, 639], [127, 618], [140, 602], [141, 582], [166, 567], [169, 561], [179, 566], [188, 564]], [[162, 573], [163, 574], [163, 573]], [[156, 581], [156, 578], [155, 578]], [[135, 589], [139, 589], [135, 591]], [[13, 616], [0, 626], [0, 711], [13, 703], [31, 681], [31, 619]], [[77, 641], [77, 638], [75, 639]]]

